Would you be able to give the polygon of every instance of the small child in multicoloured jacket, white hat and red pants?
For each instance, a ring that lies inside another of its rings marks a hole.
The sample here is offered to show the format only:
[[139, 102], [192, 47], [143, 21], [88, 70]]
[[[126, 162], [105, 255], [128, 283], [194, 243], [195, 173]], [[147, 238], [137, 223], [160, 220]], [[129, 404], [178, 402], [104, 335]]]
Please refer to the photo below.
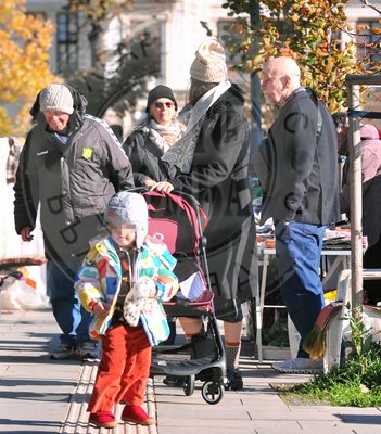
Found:
[[140, 194], [115, 194], [104, 215], [107, 237], [90, 240], [75, 289], [93, 314], [90, 336], [101, 339], [102, 358], [88, 405], [89, 422], [117, 425], [113, 408], [126, 403], [122, 420], [155, 424], [141, 405], [151, 366], [151, 347], [169, 335], [161, 299], [178, 290], [176, 259], [148, 233], [148, 209]]

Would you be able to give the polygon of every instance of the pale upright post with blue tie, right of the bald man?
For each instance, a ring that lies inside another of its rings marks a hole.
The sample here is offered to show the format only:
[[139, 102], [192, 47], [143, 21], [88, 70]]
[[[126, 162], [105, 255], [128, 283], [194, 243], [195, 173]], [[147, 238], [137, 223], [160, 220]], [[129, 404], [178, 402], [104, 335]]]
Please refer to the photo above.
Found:
[[[359, 86], [348, 85], [350, 110], [359, 106]], [[357, 118], [350, 117], [350, 202], [351, 202], [351, 278], [352, 316], [361, 320], [363, 309], [363, 186], [360, 132]], [[357, 309], [357, 307], [359, 309]]]

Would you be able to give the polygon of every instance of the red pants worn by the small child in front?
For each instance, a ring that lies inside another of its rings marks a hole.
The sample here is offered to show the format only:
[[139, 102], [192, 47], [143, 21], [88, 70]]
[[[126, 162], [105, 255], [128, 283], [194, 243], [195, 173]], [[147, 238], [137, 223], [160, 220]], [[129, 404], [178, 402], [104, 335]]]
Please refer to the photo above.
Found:
[[109, 329], [102, 336], [102, 359], [87, 411], [111, 411], [120, 401], [142, 405], [151, 354], [142, 326]]

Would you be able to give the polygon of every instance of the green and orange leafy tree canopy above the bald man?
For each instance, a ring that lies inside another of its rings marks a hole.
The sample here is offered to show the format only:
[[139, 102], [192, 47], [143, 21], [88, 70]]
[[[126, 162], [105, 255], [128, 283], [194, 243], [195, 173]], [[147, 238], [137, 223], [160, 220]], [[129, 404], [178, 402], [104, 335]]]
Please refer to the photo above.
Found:
[[[345, 7], [350, 0], [228, 0], [224, 8], [234, 16], [231, 50], [241, 53], [237, 65], [246, 72], [261, 69], [271, 56], [289, 55], [303, 72], [303, 84], [314, 88], [331, 112], [347, 101], [346, 74], [379, 73], [372, 60], [380, 39], [366, 39], [366, 53], [358, 59], [364, 33], [378, 36], [378, 28], [351, 28]], [[363, 1], [365, 5], [368, 1]], [[374, 8], [373, 8], [374, 9]], [[377, 10], [377, 9], [376, 9]], [[345, 38], [343, 38], [345, 36]], [[363, 44], [364, 47], [364, 44]]]

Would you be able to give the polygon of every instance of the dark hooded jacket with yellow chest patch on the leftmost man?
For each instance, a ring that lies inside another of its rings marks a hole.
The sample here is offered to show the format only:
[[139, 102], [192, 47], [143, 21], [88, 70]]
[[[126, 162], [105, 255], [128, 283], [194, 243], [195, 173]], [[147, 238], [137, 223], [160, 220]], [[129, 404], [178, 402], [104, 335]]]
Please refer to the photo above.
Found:
[[48, 258], [82, 256], [101, 229], [110, 197], [134, 187], [132, 169], [107, 124], [86, 114], [87, 101], [71, 88], [74, 113], [68, 140], [48, 129], [38, 97], [30, 111], [36, 125], [27, 135], [14, 186], [17, 233], [35, 228], [37, 209]]

